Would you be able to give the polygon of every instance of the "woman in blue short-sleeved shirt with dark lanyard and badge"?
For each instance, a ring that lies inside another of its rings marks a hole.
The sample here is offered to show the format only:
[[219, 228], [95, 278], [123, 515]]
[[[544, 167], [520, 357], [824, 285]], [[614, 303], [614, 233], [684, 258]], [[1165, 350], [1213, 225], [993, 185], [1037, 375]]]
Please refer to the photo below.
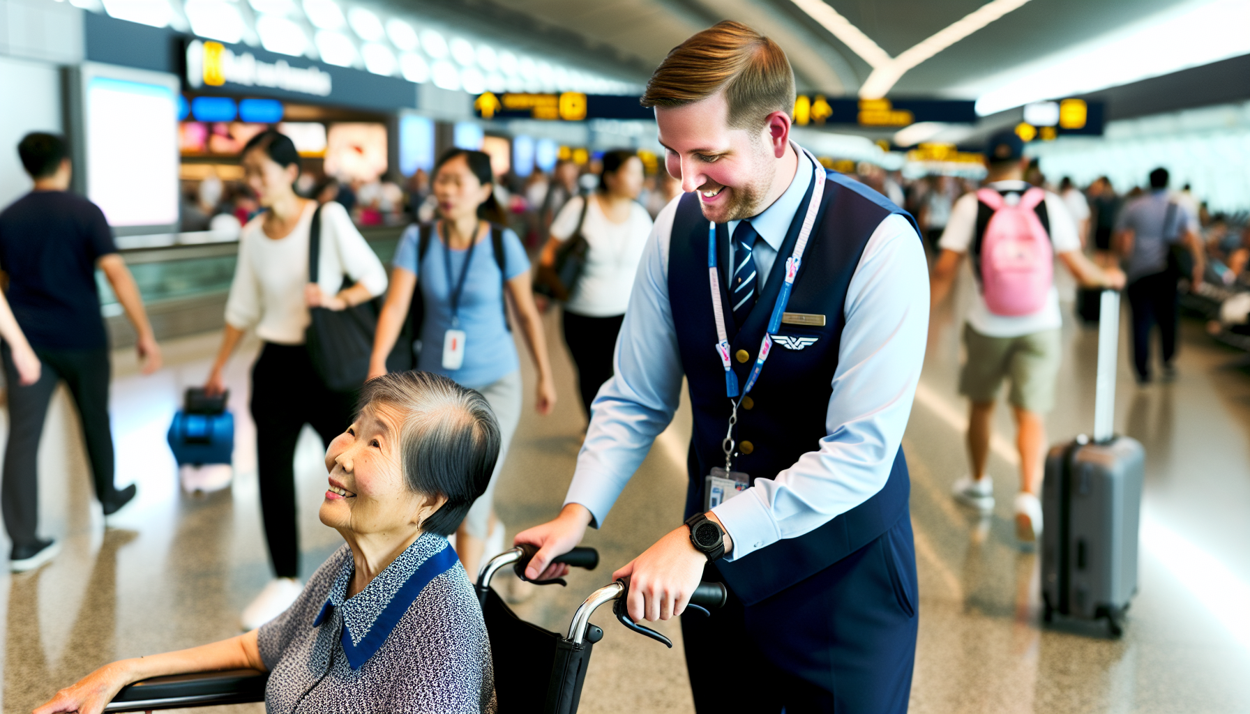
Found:
[[[449, 149], [434, 166], [434, 196], [441, 220], [428, 226], [424, 255], [421, 229], [400, 239], [390, 291], [378, 319], [369, 376], [386, 374], [386, 356], [408, 318], [416, 288], [425, 314], [416, 369], [444, 374], [476, 389], [499, 419], [502, 446], [486, 493], [474, 503], [456, 530], [456, 553], [469, 573], [478, 571], [488, 536], [502, 524], [495, 519], [494, 494], [516, 424], [521, 419], [520, 359], [505, 316], [505, 293], [512, 303], [525, 344], [538, 368], [535, 404], [548, 414], [555, 404], [551, 363], [542, 321], [534, 306], [530, 261], [516, 234], [502, 230], [502, 264], [491, 245], [491, 223], [506, 214], [494, 196], [490, 158], [481, 151]], [[491, 553], [494, 555], [494, 553]]]

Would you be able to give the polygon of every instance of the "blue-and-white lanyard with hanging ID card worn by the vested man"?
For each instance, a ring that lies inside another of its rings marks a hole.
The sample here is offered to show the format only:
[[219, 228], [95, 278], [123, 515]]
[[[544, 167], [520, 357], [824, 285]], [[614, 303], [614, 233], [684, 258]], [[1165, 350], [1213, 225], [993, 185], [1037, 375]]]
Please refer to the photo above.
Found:
[[794, 253], [785, 261], [785, 281], [781, 284], [776, 303], [772, 305], [769, 326], [764, 331], [764, 339], [760, 341], [759, 356], [755, 358], [755, 366], [751, 368], [751, 373], [746, 378], [746, 385], [741, 390], [738, 389], [738, 374], [734, 373], [732, 364], [730, 363], [729, 338], [725, 331], [725, 310], [720, 303], [720, 274], [716, 268], [716, 224], [708, 223], [708, 275], [711, 283], [711, 306], [712, 314], [716, 318], [716, 339], [719, 340], [715, 346], [716, 354], [720, 356], [720, 363], [725, 368], [725, 394], [729, 396], [730, 404], [732, 404], [732, 411], [729, 415], [729, 430], [721, 441], [721, 449], [725, 451], [725, 468], [716, 466], [711, 469], [711, 473], [704, 479], [705, 511], [736, 496], [750, 485], [751, 479], [749, 475], [734, 470], [734, 448], [736, 446], [734, 441], [734, 426], [738, 424], [738, 406], [760, 378], [760, 370], [764, 369], [764, 363], [768, 361], [769, 353], [772, 350], [772, 335], [781, 329], [781, 319], [785, 314], [786, 304], [790, 301], [790, 293], [794, 290], [795, 276], [799, 275], [799, 265], [802, 263], [802, 251], [808, 248], [808, 239], [811, 236], [811, 229], [816, 223], [816, 213], [820, 210], [820, 201], [825, 193], [826, 176], [824, 166], [820, 165], [820, 161], [816, 160], [811, 151], [800, 148], [798, 144], [794, 144], [794, 148], [802, 151], [808, 156], [808, 160], [811, 161], [815, 186], [811, 190], [808, 213], [802, 218], [802, 226], [799, 229], [799, 240], [794, 244]]

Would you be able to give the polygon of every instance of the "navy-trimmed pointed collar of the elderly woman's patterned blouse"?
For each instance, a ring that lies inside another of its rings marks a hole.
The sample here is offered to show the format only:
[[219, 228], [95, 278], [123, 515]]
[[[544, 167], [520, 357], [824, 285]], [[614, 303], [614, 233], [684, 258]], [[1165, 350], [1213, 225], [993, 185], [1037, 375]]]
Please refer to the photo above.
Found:
[[386, 643], [391, 630], [430, 580], [446, 573], [456, 563], [456, 553], [446, 538], [422, 533], [364, 590], [346, 598], [348, 584], [355, 569], [349, 555], [321, 611], [312, 620], [312, 626], [320, 626], [338, 611], [342, 623], [342, 651], [348, 655], [351, 669], [360, 669]]

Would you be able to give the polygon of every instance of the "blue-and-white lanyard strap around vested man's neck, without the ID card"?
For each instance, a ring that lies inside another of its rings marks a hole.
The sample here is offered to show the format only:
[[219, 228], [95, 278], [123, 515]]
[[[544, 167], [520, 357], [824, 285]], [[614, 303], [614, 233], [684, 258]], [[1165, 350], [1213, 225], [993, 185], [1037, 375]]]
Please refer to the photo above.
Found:
[[772, 305], [769, 326], [764, 331], [764, 339], [760, 341], [760, 354], [755, 358], [755, 366], [751, 368], [741, 394], [739, 394], [738, 388], [738, 374], [734, 373], [732, 364], [730, 363], [729, 336], [725, 331], [725, 309], [720, 303], [720, 274], [716, 269], [716, 224], [708, 221], [708, 276], [711, 283], [712, 314], [716, 318], [716, 354], [720, 355], [720, 363], [725, 368], [725, 394], [734, 404], [734, 411], [729, 418], [729, 433], [721, 444], [725, 449], [725, 470], [730, 470], [730, 459], [734, 451], [732, 436], [734, 424], [738, 423], [738, 405], [741, 404], [742, 398], [755, 386], [755, 380], [760, 378], [760, 370], [764, 369], [764, 363], [768, 361], [769, 353], [772, 351], [772, 334], [781, 329], [781, 315], [790, 301], [790, 293], [794, 290], [794, 279], [799, 274], [799, 265], [802, 263], [802, 251], [808, 248], [808, 239], [811, 236], [811, 229], [816, 223], [816, 213], [820, 210], [820, 200], [825, 193], [824, 166], [811, 155], [811, 151], [800, 148], [798, 144], [792, 146], [802, 151], [808, 156], [808, 160], [811, 161], [815, 186], [811, 190], [811, 201], [808, 204], [808, 213], [804, 215], [802, 226], [799, 229], [799, 240], [794, 244], [794, 253], [785, 260], [785, 281], [781, 284], [776, 303]]

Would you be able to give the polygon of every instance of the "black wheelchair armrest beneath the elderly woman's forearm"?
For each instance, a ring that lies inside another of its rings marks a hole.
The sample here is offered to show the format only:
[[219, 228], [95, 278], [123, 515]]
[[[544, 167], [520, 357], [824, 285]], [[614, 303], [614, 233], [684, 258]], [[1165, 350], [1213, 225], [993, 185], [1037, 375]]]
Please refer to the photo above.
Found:
[[256, 669], [154, 676], [128, 684], [105, 711], [146, 711], [265, 700], [269, 673]]

